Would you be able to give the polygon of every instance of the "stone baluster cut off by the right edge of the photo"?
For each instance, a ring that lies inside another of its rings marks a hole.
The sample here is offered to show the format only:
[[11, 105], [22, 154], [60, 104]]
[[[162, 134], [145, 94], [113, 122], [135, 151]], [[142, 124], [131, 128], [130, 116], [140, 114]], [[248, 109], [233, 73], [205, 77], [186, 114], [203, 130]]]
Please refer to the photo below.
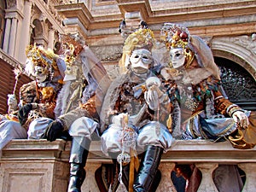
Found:
[[256, 189], [256, 163], [241, 163], [238, 166], [246, 173], [246, 183], [242, 191], [254, 191]]

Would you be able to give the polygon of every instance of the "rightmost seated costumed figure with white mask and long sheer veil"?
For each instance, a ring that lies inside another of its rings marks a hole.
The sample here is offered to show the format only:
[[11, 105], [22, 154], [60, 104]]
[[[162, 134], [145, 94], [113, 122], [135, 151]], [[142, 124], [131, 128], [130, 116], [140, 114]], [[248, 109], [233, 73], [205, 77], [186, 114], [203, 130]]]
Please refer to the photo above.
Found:
[[[172, 136], [214, 142], [230, 140], [234, 148], [253, 148], [255, 114], [228, 100], [212, 51], [203, 39], [191, 36], [186, 27], [172, 23], [162, 27], [161, 38], [171, 58], [171, 65], [163, 68], [161, 74], [167, 80], [175, 80], [168, 95], [172, 103], [179, 104], [172, 112]], [[233, 184], [216, 183], [219, 191], [240, 191], [240, 178], [235, 178], [237, 170], [226, 173]]]

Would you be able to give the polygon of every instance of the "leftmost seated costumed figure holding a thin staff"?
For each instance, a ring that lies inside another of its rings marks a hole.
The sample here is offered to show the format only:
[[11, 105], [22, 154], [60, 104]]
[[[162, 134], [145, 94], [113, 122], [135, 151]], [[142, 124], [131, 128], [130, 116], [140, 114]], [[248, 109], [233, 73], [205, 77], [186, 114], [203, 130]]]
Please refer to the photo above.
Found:
[[[52, 51], [38, 48], [35, 45], [26, 49], [26, 71], [36, 80], [20, 87], [20, 102], [17, 105], [15, 90], [9, 94], [9, 114], [2, 115], [0, 125], [0, 148], [2, 149], [11, 139], [26, 138], [29, 126], [35, 125], [34, 119], [39, 117], [54, 118], [55, 99], [62, 86], [60, 70], [63, 61]], [[22, 70], [20, 69], [20, 74]], [[61, 75], [62, 73], [62, 75]], [[19, 75], [20, 75], [19, 74]], [[15, 88], [18, 75], [15, 77]], [[34, 127], [34, 126], [33, 126]], [[28, 135], [29, 135], [28, 131]]]

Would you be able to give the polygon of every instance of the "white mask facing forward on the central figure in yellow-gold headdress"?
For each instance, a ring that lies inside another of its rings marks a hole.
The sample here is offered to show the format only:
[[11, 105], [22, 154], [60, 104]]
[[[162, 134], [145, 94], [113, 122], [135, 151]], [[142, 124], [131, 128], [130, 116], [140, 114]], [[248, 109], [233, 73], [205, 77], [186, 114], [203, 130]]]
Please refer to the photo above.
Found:
[[135, 49], [130, 56], [131, 70], [134, 73], [144, 74], [148, 72], [153, 62], [151, 52], [148, 49]]

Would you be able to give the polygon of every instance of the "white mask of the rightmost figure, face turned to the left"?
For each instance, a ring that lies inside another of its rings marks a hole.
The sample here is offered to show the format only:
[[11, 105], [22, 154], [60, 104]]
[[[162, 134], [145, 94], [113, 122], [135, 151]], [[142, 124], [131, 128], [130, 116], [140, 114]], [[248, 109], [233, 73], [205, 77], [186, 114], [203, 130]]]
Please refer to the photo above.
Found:
[[173, 68], [182, 67], [185, 63], [186, 56], [182, 48], [174, 48], [170, 50], [170, 56]]

